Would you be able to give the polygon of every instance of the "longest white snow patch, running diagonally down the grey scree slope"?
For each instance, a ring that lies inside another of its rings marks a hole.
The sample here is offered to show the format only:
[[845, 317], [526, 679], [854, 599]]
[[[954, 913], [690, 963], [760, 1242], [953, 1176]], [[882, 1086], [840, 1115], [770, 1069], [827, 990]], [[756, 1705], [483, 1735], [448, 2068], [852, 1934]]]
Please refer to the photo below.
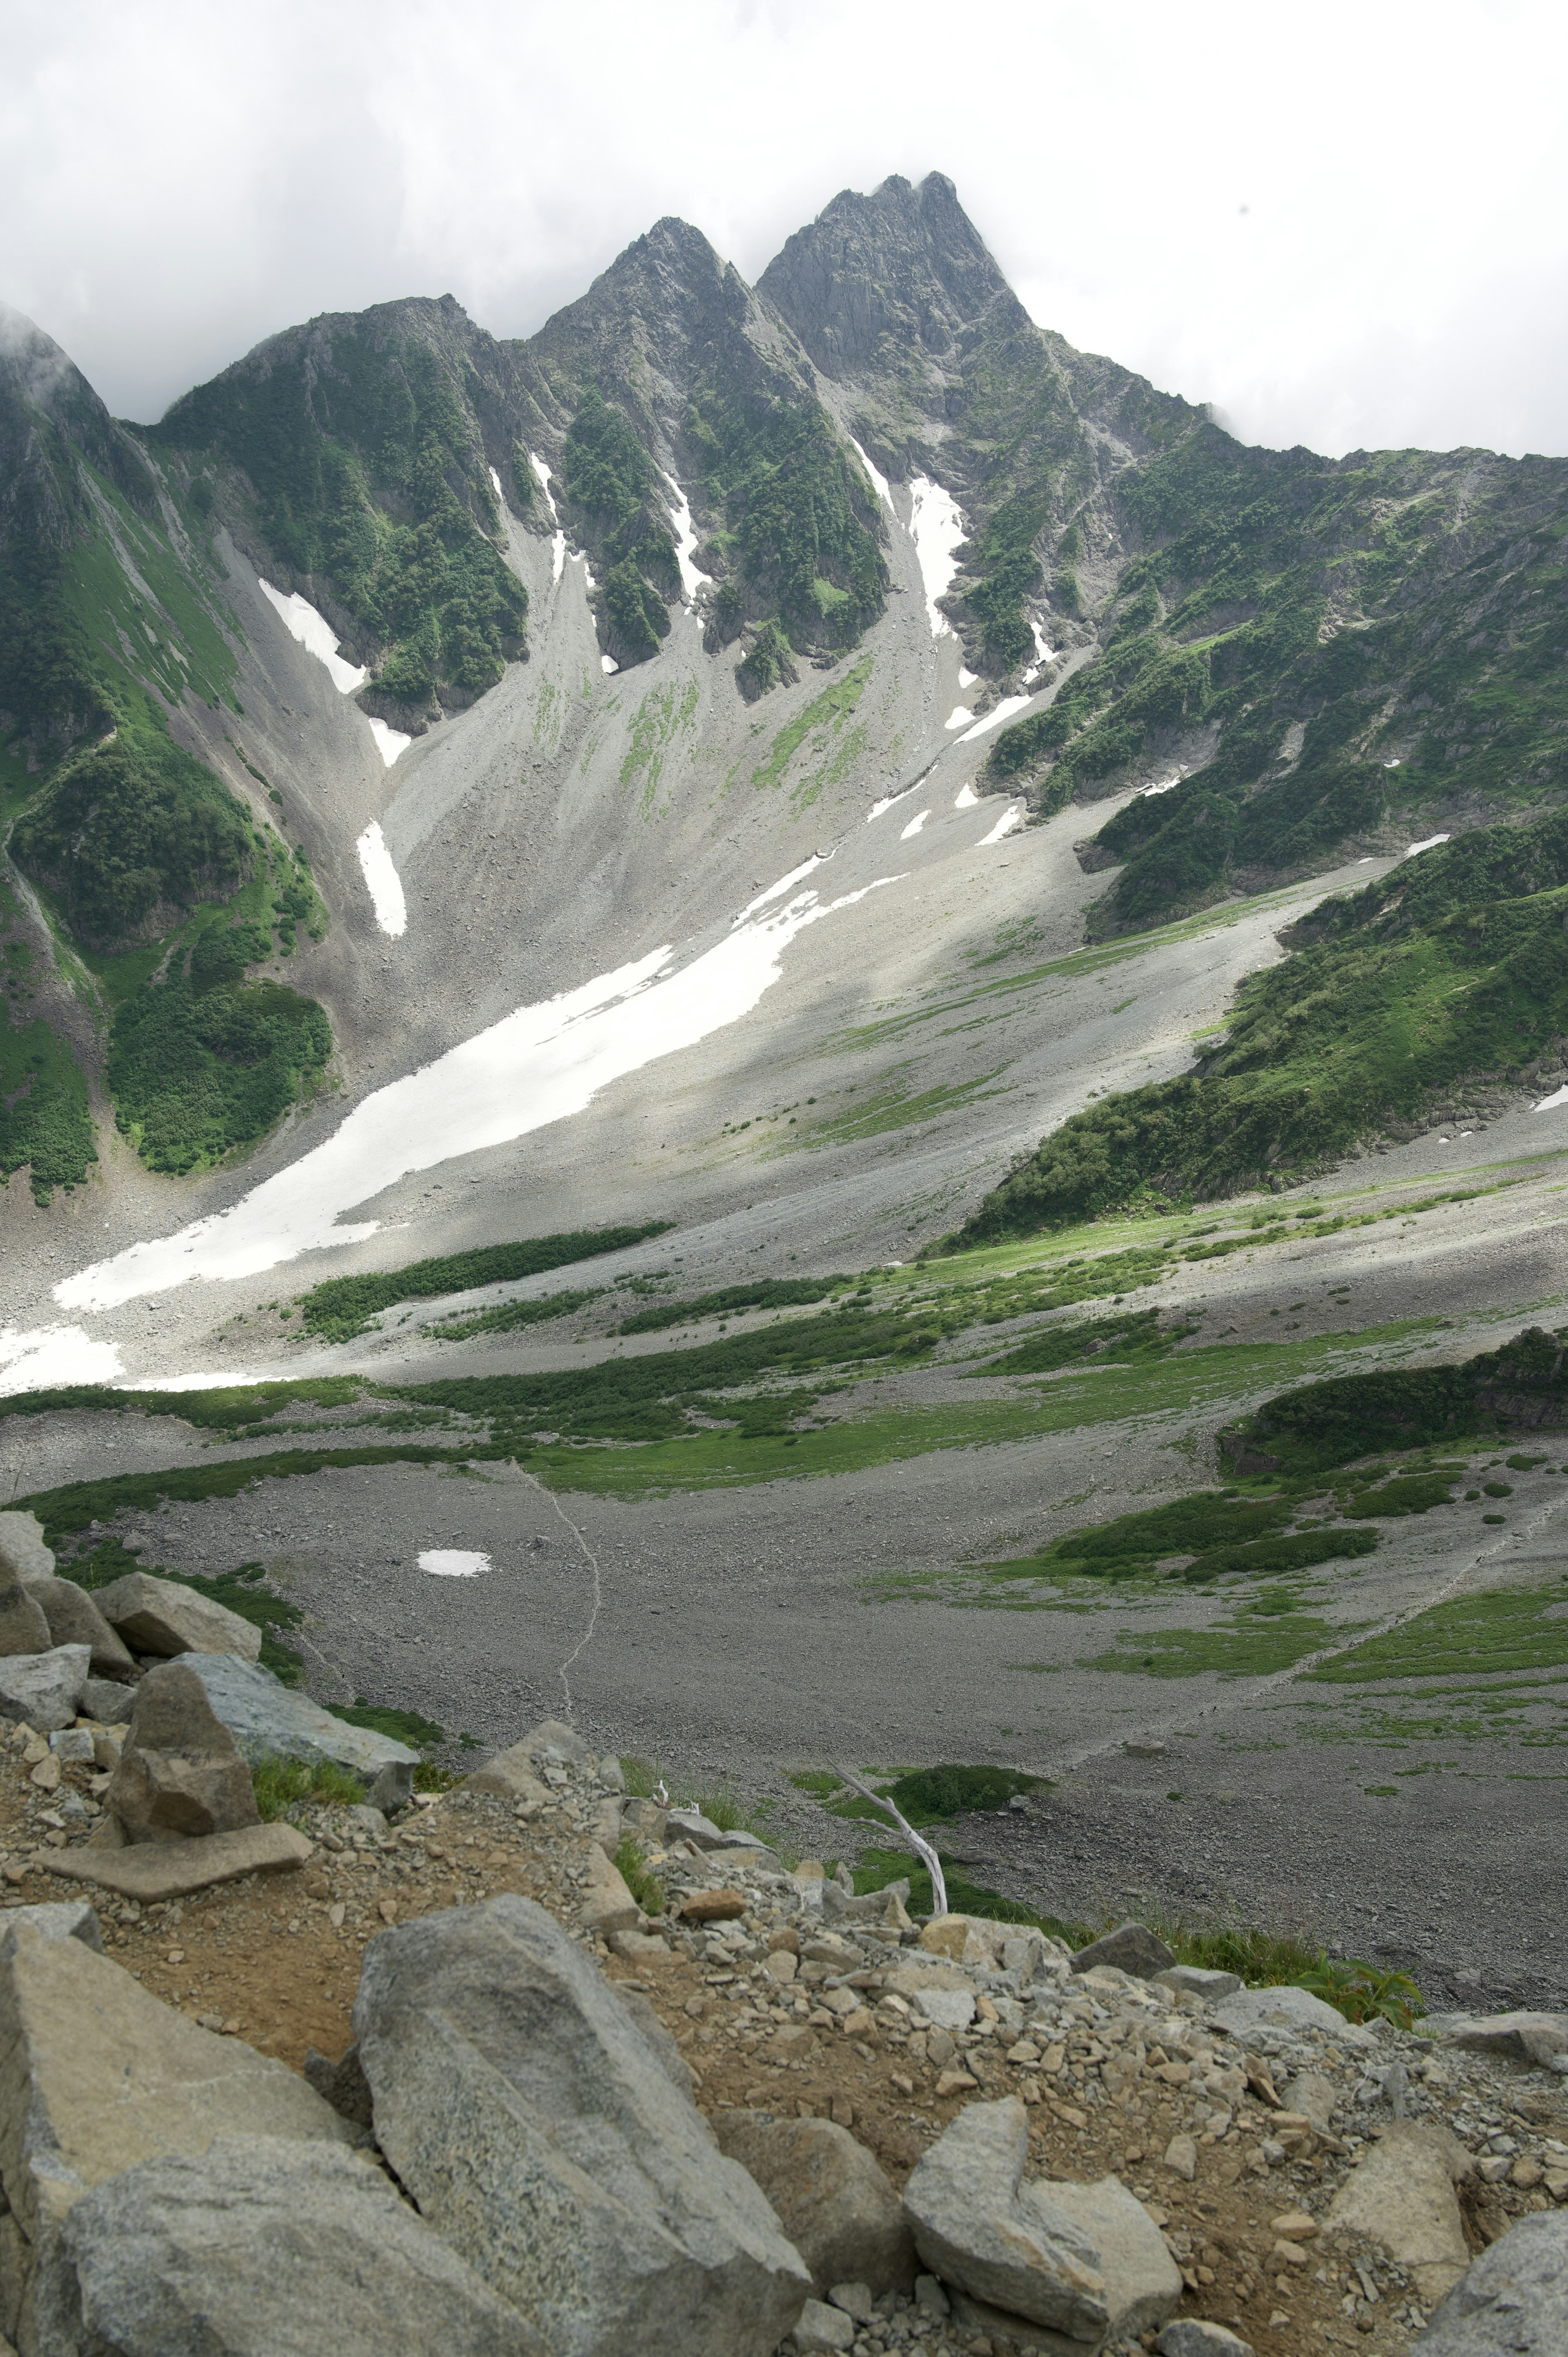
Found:
[[[901, 877], [877, 877], [823, 900], [795, 893], [783, 907], [736, 926], [712, 950], [674, 969], [670, 945], [519, 1006], [434, 1063], [363, 1098], [337, 1131], [231, 1209], [66, 1277], [61, 1308], [113, 1308], [189, 1277], [250, 1277], [302, 1252], [358, 1244], [380, 1221], [344, 1221], [408, 1171], [564, 1122], [627, 1072], [696, 1047], [738, 1023], [783, 973], [783, 952], [806, 926], [835, 917]], [[71, 1329], [73, 1336], [78, 1329]], [[80, 1336], [85, 1343], [85, 1336]], [[87, 1346], [106, 1351], [106, 1346]], [[94, 1367], [33, 1381], [97, 1381]]]

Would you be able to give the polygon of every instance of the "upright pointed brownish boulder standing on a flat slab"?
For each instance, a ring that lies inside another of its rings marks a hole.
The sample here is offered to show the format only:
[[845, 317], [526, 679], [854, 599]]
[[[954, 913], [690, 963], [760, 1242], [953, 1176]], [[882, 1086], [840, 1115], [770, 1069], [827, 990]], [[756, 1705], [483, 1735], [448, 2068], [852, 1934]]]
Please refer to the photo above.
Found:
[[137, 1688], [104, 1808], [130, 1843], [238, 1834], [262, 1822], [250, 1768], [184, 1662], [149, 1669]]

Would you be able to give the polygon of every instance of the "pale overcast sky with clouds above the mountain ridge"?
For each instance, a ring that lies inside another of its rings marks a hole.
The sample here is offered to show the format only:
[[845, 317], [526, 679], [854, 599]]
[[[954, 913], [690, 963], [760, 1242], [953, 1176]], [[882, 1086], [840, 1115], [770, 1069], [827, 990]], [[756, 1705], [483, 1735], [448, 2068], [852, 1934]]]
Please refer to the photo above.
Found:
[[948, 172], [1033, 316], [1247, 441], [1568, 450], [1537, 0], [0, 0], [0, 299], [108, 405], [314, 311], [526, 335], [665, 212], [747, 278]]

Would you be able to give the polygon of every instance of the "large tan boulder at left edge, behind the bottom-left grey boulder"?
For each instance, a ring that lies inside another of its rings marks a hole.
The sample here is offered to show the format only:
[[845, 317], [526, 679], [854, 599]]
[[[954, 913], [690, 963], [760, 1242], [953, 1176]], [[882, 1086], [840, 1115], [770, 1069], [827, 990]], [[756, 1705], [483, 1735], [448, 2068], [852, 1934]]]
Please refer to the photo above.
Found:
[[104, 2178], [219, 2135], [347, 2145], [304, 2079], [196, 2029], [80, 1940], [31, 1926], [0, 1947], [0, 2331], [75, 2350], [68, 2211]]

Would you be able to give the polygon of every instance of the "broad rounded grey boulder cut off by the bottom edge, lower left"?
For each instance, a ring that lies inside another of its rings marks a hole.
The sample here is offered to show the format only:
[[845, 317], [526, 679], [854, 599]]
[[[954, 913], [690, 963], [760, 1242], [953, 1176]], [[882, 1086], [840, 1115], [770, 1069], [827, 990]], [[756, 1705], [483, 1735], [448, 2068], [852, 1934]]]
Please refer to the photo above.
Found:
[[219, 2138], [85, 2194], [83, 2343], [116, 2357], [549, 2357], [516, 2310], [335, 2145]]

